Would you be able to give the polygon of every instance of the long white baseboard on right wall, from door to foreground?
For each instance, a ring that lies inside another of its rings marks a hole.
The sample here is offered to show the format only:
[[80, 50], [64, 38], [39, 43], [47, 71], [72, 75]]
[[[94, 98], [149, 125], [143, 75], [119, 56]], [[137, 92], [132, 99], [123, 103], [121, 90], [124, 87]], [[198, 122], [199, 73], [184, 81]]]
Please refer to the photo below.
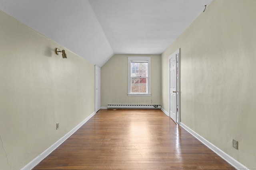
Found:
[[186, 131], [188, 131], [189, 133], [191, 133], [191, 135], [193, 135], [194, 137], [196, 137], [196, 139], [198, 139], [199, 141], [201, 141], [204, 145], [206, 145], [206, 147], [208, 147], [209, 149], [211, 149], [213, 152], [215, 152], [216, 154], [218, 154], [221, 158], [223, 158], [224, 160], [226, 160], [229, 164], [231, 164], [232, 166], [234, 166], [236, 169], [244, 169], [244, 170], [248, 170], [248, 168], [246, 168], [246, 166], [244, 166], [243, 164], [241, 164], [240, 162], [238, 162], [237, 160], [235, 160], [234, 158], [232, 158], [231, 156], [229, 156], [228, 154], [226, 154], [225, 152], [223, 152], [222, 150], [220, 150], [219, 148], [217, 148], [216, 146], [214, 146], [212, 143], [210, 143], [209, 141], [207, 141], [206, 139], [204, 139], [202, 136], [198, 135], [195, 131], [193, 131], [192, 129], [190, 129], [189, 127], [187, 127], [186, 125], [184, 125], [183, 123], [180, 122], [180, 126], [183, 127]]

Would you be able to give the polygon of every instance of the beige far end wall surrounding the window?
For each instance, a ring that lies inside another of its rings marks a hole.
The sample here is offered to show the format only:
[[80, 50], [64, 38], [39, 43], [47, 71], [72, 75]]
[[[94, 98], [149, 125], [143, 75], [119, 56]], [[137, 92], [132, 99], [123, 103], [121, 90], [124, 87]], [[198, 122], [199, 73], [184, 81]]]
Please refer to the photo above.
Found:
[[[128, 96], [128, 56], [151, 57], [151, 96]], [[101, 68], [101, 106], [161, 104], [161, 56], [114, 55]]]

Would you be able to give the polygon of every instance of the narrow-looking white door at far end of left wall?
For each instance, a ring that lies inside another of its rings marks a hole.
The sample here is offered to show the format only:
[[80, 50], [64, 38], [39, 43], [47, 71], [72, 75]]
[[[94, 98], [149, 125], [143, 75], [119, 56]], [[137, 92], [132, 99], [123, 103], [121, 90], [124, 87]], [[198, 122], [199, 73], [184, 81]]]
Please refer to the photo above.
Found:
[[95, 112], [100, 110], [100, 67], [95, 66]]

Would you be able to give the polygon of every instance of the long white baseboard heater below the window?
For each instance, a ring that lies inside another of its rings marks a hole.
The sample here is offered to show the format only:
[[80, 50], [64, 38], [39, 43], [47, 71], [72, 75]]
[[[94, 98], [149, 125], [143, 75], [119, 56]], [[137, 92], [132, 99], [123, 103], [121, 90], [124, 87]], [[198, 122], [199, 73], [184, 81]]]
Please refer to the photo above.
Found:
[[161, 105], [147, 104], [108, 104], [108, 109], [161, 109]]

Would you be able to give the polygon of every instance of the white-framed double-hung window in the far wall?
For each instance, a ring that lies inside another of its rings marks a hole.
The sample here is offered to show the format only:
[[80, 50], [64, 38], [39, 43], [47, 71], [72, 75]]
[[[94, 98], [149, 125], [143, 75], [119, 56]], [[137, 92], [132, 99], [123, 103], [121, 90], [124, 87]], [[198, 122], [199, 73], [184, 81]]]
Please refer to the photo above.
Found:
[[128, 96], [150, 96], [150, 57], [128, 57]]

